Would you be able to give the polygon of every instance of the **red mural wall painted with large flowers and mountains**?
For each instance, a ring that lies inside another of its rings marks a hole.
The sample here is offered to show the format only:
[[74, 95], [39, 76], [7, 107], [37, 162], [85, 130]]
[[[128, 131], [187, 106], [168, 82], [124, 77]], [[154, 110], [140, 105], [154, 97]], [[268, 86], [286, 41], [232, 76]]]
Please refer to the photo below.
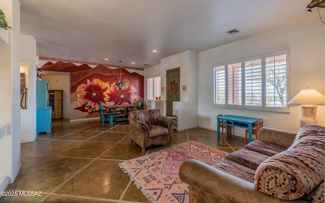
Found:
[[143, 100], [144, 77], [123, 68], [110, 69], [105, 65], [92, 68], [87, 64], [77, 66], [57, 61], [47, 62], [40, 70], [71, 73], [71, 120], [99, 117], [99, 101], [103, 105], [118, 105]]

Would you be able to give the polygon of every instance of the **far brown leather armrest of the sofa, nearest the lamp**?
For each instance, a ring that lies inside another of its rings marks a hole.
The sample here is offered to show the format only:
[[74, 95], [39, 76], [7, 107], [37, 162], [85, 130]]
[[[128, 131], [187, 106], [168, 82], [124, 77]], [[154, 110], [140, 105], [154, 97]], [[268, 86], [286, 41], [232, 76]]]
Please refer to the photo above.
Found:
[[296, 134], [296, 132], [288, 132], [262, 127], [258, 132], [258, 140], [263, 140], [265, 142], [287, 149], [293, 144], [296, 138]]

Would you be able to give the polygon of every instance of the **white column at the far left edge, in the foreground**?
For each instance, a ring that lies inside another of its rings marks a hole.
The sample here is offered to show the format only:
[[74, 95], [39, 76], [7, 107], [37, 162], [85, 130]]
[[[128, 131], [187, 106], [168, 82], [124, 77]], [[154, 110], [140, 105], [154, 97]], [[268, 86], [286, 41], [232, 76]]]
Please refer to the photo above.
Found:
[[8, 24], [13, 28], [8, 30], [8, 43], [0, 43], [0, 123], [8, 124], [7, 135], [0, 140], [0, 189], [3, 190], [6, 183], [10, 184], [15, 180], [21, 167], [20, 4], [18, 0], [0, 0], [0, 5]]

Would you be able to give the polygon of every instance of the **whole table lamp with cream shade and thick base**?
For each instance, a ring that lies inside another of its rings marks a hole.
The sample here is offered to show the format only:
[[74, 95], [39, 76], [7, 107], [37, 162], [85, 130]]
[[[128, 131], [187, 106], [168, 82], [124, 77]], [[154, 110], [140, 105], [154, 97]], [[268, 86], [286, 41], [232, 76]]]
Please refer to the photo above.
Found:
[[300, 127], [305, 125], [318, 125], [316, 119], [317, 105], [325, 104], [325, 96], [315, 89], [303, 89], [288, 104], [301, 105], [303, 117], [300, 119]]

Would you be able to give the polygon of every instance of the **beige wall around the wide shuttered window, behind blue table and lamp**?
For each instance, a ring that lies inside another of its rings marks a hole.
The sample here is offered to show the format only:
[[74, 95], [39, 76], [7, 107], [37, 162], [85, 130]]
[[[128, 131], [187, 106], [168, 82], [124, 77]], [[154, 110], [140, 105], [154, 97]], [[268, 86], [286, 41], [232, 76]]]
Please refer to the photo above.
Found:
[[[212, 107], [212, 64], [289, 47], [290, 98], [307, 86], [324, 94], [324, 33], [325, 26], [317, 18], [199, 53], [199, 126], [216, 130], [215, 116], [232, 114], [263, 118], [266, 127], [298, 131], [300, 105], [291, 105], [289, 114]], [[324, 105], [318, 105], [317, 119], [320, 125], [325, 125]], [[244, 135], [241, 128], [233, 132]]]

